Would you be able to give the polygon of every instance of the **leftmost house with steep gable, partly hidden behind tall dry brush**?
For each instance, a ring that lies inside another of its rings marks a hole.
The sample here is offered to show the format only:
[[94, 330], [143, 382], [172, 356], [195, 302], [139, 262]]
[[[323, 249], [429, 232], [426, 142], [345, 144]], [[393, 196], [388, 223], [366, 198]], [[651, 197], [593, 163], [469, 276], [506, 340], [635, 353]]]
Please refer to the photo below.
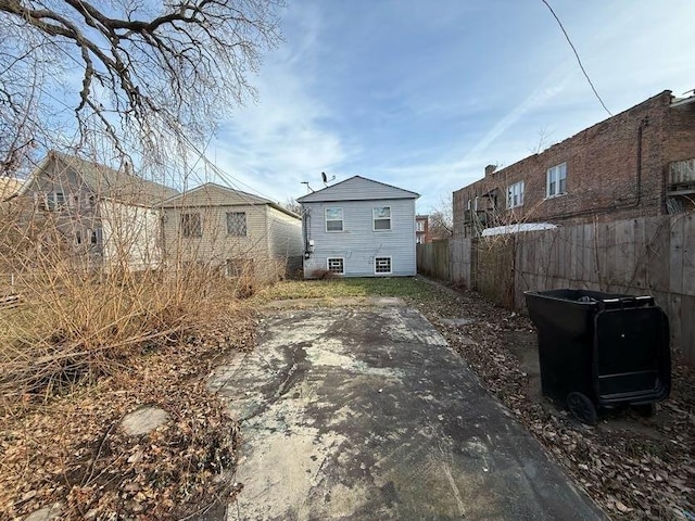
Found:
[[52, 221], [86, 266], [142, 270], [162, 262], [156, 203], [173, 188], [100, 163], [51, 151], [17, 198], [34, 202], [27, 223]]

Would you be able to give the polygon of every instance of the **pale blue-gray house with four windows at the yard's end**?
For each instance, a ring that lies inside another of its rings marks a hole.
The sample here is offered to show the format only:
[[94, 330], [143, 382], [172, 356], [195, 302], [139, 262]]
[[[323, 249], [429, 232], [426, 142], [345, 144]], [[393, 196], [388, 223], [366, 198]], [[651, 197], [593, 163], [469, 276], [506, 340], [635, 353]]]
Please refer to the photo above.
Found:
[[361, 176], [299, 198], [304, 277], [415, 276], [417, 198]]

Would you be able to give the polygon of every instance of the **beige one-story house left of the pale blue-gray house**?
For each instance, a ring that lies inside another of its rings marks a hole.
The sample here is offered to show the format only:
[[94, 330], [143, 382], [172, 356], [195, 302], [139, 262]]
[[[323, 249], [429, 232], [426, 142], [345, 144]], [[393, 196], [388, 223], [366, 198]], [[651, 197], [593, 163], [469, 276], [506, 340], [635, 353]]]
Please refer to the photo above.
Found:
[[267, 280], [301, 267], [300, 216], [270, 200], [208, 182], [167, 199], [162, 209], [169, 265], [199, 262]]

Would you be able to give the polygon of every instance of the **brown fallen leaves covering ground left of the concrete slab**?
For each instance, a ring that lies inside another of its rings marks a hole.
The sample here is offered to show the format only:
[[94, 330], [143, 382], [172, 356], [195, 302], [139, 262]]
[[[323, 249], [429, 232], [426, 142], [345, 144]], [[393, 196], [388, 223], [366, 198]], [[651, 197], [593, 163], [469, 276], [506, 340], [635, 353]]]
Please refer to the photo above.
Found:
[[[184, 519], [238, 492], [238, 427], [206, 376], [253, 345], [255, 319], [136, 357], [123, 372], [1, 420], [0, 519], [61, 504], [61, 519]], [[172, 421], [128, 436], [121, 419], [146, 404]]]

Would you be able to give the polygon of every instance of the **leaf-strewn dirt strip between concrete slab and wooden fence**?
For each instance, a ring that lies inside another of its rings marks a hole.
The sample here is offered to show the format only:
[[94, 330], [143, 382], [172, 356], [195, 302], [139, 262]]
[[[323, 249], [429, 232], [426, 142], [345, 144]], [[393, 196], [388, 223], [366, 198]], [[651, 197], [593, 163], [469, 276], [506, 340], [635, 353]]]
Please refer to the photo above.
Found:
[[[528, 317], [475, 293], [443, 291], [448, 298], [421, 312], [611, 518], [695, 519], [695, 370], [678, 353], [670, 398], [654, 417], [630, 408], [603, 411], [598, 424], [587, 427], [542, 395]], [[452, 323], [453, 317], [468, 323]]]

